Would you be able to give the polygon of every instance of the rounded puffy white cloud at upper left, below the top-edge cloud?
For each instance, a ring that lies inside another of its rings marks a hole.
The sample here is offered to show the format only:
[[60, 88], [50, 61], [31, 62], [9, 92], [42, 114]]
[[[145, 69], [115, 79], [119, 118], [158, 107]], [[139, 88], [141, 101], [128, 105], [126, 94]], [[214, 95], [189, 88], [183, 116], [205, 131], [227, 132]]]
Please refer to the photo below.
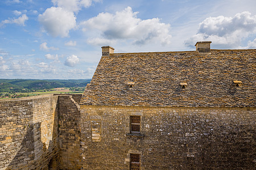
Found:
[[61, 7], [47, 8], [38, 18], [43, 29], [53, 37], [67, 37], [69, 31], [76, 27], [76, 17], [73, 12]]

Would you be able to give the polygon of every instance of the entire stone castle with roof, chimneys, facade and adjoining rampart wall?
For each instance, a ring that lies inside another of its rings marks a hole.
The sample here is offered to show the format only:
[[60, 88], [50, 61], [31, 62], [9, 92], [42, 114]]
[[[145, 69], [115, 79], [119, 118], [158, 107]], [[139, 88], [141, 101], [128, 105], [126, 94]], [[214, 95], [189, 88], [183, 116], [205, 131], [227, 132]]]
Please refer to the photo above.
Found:
[[114, 53], [83, 95], [0, 100], [0, 169], [254, 169], [256, 49]]

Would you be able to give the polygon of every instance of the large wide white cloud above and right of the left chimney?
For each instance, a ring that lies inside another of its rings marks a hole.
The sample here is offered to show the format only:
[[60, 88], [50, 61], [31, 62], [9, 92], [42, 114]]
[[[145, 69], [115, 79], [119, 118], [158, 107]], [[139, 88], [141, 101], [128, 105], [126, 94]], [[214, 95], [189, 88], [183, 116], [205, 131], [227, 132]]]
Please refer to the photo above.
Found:
[[[137, 14], [131, 7], [127, 7], [115, 14], [102, 12], [80, 25], [83, 31], [100, 31], [105, 39], [130, 39], [135, 44], [147, 44], [151, 41], [158, 41], [162, 45], [170, 44], [170, 24], [161, 23], [158, 18], [142, 20], [137, 18]], [[102, 37], [98, 38], [100, 39]], [[88, 42], [95, 43], [97, 39]]]

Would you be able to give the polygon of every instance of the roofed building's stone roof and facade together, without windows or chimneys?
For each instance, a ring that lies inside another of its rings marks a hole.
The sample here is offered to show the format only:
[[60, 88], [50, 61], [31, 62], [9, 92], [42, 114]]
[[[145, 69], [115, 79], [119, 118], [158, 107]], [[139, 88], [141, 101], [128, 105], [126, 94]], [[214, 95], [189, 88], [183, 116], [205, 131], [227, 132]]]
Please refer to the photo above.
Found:
[[83, 168], [129, 169], [140, 154], [141, 169], [253, 169], [255, 59], [255, 49], [102, 56], [80, 101]]

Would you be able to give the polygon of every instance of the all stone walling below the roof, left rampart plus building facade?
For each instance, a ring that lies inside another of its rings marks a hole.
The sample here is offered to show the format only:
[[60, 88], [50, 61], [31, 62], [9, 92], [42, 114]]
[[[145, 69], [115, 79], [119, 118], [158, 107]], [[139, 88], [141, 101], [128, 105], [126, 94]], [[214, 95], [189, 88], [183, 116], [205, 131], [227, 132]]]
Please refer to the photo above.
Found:
[[[81, 95], [0, 100], [0, 169], [254, 169], [255, 108], [102, 107]], [[130, 133], [141, 116], [141, 134]]]

